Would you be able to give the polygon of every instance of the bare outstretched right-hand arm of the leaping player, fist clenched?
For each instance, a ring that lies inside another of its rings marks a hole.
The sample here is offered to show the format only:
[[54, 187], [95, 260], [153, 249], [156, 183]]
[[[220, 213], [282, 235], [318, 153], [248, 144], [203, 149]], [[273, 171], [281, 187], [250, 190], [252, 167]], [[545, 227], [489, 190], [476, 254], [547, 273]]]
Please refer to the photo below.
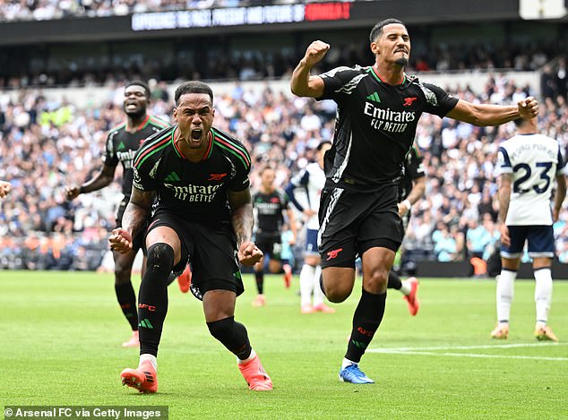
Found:
[[460, 99], [446, 116], [478, 126], [500, 125], [517, 118], [538, 116], [538, 101], [532, 97], [522, 99], [517, 106], [473, 104]]

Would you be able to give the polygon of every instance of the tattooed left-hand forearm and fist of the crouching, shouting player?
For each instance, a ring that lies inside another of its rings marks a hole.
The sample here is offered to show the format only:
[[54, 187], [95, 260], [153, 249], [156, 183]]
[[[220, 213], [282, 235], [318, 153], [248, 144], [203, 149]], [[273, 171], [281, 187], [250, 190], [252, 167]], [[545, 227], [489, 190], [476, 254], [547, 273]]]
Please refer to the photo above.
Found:
[[132, 250], [133, 237], [140, 232], [148, 219], [154, 196], [153, 191], [142, 191], [133, 186], [130, 201], [122, 218], [123, 227], [116, 227], [108, 238], [110, 249], [119, 253], [129, 253]]

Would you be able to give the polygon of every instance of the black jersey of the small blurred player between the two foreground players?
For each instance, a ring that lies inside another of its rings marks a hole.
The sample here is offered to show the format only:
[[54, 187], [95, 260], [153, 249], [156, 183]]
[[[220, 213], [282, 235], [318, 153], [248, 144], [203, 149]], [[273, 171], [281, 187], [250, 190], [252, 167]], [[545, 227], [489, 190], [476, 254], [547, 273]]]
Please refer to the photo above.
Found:
[[280, 233], [284, 217], [282, 210], [288, 210], [288, 195], [276, 188], [272, 193], [254, 193], [253, 206], [256, 209], [257, 233]]

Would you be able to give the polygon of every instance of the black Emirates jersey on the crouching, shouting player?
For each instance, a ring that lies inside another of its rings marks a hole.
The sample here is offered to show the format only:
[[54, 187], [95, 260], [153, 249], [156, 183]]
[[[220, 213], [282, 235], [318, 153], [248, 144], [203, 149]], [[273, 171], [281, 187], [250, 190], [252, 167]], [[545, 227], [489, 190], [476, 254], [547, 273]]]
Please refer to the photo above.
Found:
[[156, 207], [180, 219], [229, 222], [228, 191], [249, 186], [251, 158], [237, 138], [211, 128], [209, 149], [200, 162], [185, 159], [176, 146], [177, 125], [143, 142], [133, 160], [133, 185], [157, 192]]

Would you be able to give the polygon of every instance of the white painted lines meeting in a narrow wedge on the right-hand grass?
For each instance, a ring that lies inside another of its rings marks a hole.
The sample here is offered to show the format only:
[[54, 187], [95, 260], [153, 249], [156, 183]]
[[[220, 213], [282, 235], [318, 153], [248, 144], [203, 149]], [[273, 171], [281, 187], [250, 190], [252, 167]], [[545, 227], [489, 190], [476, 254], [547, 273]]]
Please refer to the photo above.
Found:
[[[473, 350], [478, 348], [515, 348], [515, 347], [549, 347], [549, 346], [565, 346], [568, 343], [525, 343], [525, 344], [496, 344], [485, 346], [454, 346], [454, 347], [392, 347], [392, 348], [370, 348], [366, 353], [384, 353], [396, 355], [415, 355], [415, 356], [454, 356], [454, 357], [478, 357], [478, 358], [495, 358], [495, 359], [532, 359], [532, 360], [549, 360], [554, 362], [568, 362], [568, 357], [552, 357], [552, 356], [515, 356], [515, 355], [485, 355], [478, 353], [454, 353], [439, 352], [436, 350]], [[433, 351], [434, 350], [434, 351]]]

